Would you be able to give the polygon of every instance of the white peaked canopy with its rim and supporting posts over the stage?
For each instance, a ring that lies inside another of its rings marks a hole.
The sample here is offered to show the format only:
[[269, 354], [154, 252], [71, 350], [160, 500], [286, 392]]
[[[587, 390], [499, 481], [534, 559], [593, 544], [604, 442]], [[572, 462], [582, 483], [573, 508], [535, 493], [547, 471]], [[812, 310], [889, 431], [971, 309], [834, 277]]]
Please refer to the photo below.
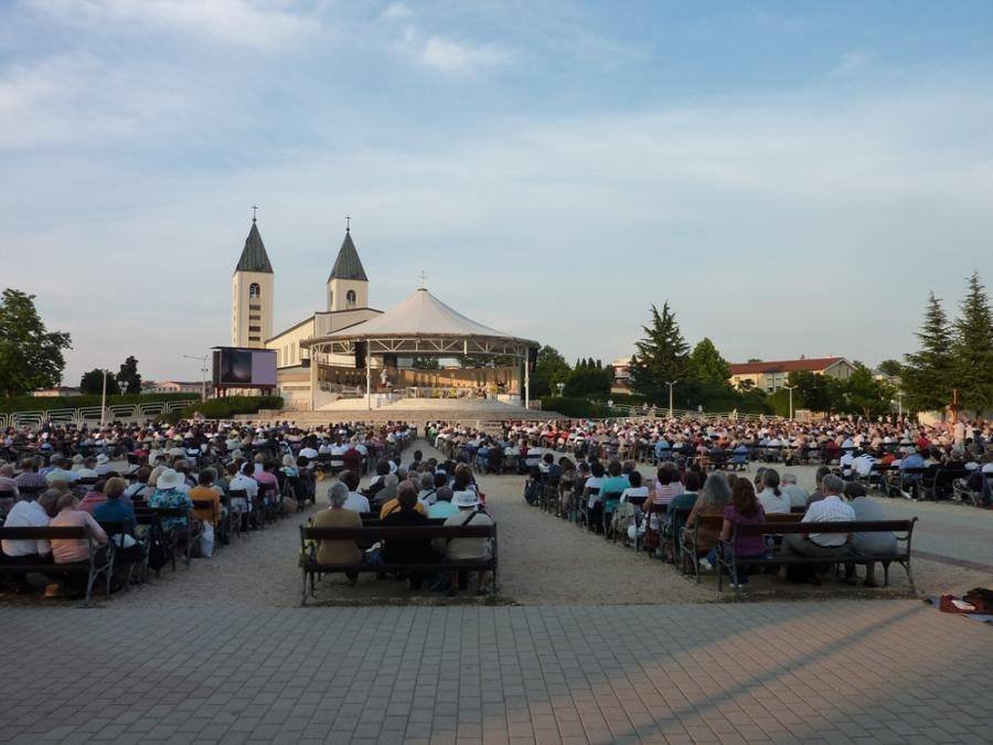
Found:
[[[371, 390], [371, 358], [374, 355], [512, 356], [526, 363], [531, 351], [540, 347], [536, 341], [521, 339], [467, 318], [425, 288], [416, 290], [398, 306], [376, 318], [334, 333], [308, 339], [301, 345], [311, 350], [311, 358], [320, 353], [364, 352], [366, 391]], [[525, 407], [530, 405], [531, 398], [528, 366], [524, 365]], [[317, 365], [311, 364], [312, 376], [316, 368]]]

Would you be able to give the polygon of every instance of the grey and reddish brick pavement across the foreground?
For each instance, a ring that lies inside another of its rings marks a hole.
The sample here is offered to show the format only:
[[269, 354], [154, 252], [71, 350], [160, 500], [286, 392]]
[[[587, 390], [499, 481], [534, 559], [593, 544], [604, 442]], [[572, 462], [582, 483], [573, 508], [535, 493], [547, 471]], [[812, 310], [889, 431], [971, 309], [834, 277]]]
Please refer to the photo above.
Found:
[[919, 602], [0, 609], [14, 742], [989, 742]]

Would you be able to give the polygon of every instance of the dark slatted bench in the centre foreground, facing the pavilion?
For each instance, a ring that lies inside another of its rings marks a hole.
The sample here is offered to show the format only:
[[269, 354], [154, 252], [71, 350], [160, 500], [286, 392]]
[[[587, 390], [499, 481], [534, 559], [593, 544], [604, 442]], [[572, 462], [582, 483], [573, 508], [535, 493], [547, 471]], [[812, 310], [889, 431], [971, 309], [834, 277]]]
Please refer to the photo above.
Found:
[[[451, 562], [439, 558], [436, 562], [418, 564], [318, 564], [317, 550], [320, 541], [354, 541], [361, 545], [373, 545], [378, 541], [418, 539], [488, 538], [491, 539], [492, 555], [489, 558]], [[308, 541], [312, 542], [308, 546]], [[313, 528], [300, 525], [300, 550], [303, 557], [301, 568], [303, 587], [300, 605], [307, 605], [308, 581], [310, 596], [314, 596], [317, 579], [324, 574], [384, 572], [487, 572], [493, 573], [493, 590], [498, 592], [496, 577], [496, 525], [363, 525], [362, 528]]]

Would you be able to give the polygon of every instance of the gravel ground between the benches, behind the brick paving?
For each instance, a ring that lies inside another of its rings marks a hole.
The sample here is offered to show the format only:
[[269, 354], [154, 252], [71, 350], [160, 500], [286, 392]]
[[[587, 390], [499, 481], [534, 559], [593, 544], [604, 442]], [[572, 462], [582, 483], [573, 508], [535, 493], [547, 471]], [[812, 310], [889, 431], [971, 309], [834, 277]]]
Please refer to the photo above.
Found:
[[[416, 447], [425, 457], [438, 455], [426, 441]], [[730, 593], [717, 593], [716, 579], [704, 577], [697, 585], [662, 562], [636, 554], [631, 549], [612, 545], [563, 520], [524, 503], [523, 477], [483, 476], [480, 486], [499, 525], [500, 603], [525, 605], [627, 605], [653, 603], [717, 603], [730, 599]], [[129, 605], [162, 608], [195, 608], [204, 605], [225, 607], [288, 607], [300, 600], [300, 549], [298, 526], [327, 504], [332, 481], [319, 483], [318, 508], [289, 515], [264, 531], [235, 540], [211, 558], [199, 558], [175, 572], [166, 567], [161, 576], [130, 593], [117, 593], [104, 607]], [[975, 586], [989, 586], [987, 573], [973, 572], [935, 562], [915, 560], [917, 588], [923, 595], [943, 592], [961, 594]], [[879, 570], [882, 581], [882, 570]], [[904, 597], [909, 593], [901, 567], [890, 567], [888, 589], [850, 587], [833, 577], [820, 587], [791, 585], [778, 577], [755, 577], [748, 590], [750, 599], [764, 598], [872, 598]], [[472, 589], [474, 585], [470, 585]], [[383, 604], [465, 604], [489, 603], [474, 594], [449, 599], [437, 593], [410, 593], [395, 579], [377, 581], [363, 575], [356, 587], [344, 577], [327, 577], [318, 585], [312, 605]], [[53, 606], [76, 605], [45, 600], [39, 595], [7, 596], [3, 604]]]

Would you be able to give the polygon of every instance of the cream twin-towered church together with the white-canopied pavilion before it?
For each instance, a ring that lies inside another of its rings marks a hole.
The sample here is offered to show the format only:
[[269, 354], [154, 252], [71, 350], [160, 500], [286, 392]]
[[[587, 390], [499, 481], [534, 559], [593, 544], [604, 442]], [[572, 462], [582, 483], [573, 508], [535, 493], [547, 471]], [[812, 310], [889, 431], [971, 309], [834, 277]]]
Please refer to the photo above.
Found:
[[253, 217], [231, 279], [231, 342], [276, 352], [287, 408], [371, 411], [404, 398], [530, 403], [537, 342], [478, 323], [425, 287], [385, 313], [370, 308], [351, 226], [325, 283], [325, 310], [275, 332], [274, 278]]

